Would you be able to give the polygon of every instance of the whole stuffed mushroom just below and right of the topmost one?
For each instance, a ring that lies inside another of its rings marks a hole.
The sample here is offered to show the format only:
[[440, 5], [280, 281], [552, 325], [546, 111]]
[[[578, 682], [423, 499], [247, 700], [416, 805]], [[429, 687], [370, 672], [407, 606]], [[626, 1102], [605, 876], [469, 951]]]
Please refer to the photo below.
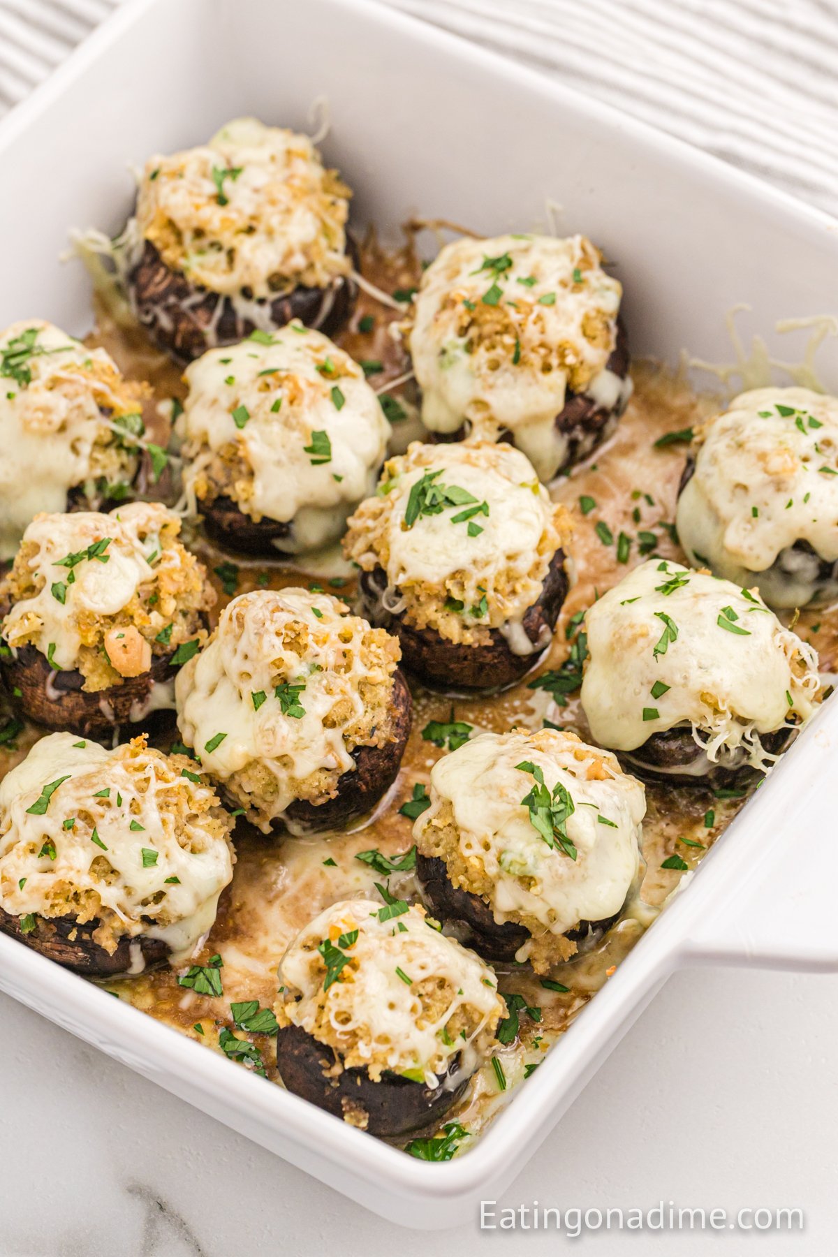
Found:
[[183, 483], [210, 537], [274, 556], [337, 539], [389, 436], [361, 367], [295, 322], [211, 349], [186, 381]]

